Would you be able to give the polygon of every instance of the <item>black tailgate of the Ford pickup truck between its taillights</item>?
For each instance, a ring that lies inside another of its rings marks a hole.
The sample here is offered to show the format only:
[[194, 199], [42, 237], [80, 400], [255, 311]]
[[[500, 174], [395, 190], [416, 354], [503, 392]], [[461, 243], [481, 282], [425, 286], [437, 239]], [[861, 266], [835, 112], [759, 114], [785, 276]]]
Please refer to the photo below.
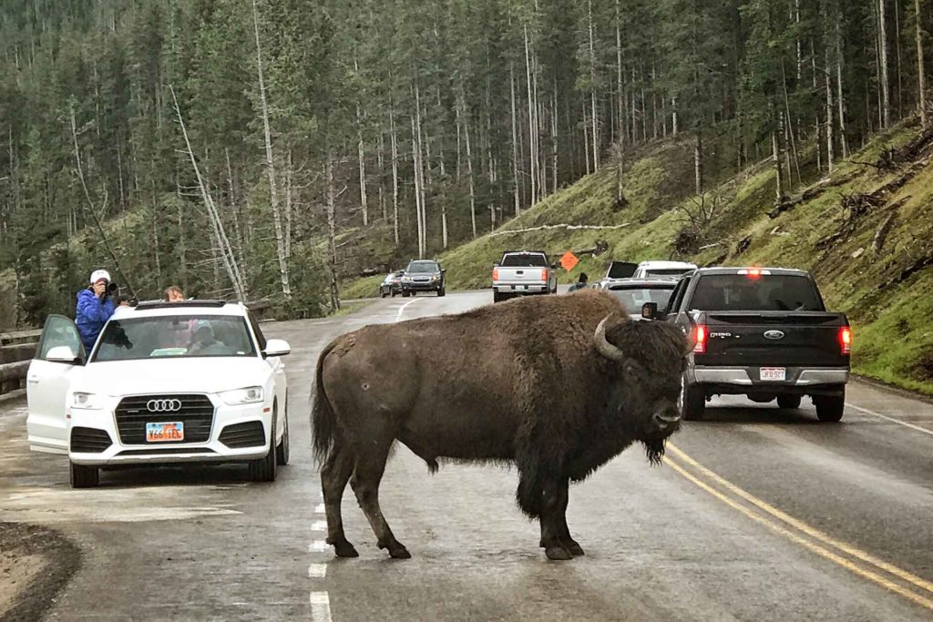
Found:
[[827, 311], [703, 311], [694, 318], [705, 326], [703, 366], [848, 366], [841, 330], [842, 313]]

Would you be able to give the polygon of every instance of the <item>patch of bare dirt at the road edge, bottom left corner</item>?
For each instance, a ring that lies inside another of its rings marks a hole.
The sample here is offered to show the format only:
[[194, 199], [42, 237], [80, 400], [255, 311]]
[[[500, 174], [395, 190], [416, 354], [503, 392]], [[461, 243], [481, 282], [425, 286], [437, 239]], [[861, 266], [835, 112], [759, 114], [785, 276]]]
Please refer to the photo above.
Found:
[[75, 574], [80, 557], [59, 532], [0, 522], [0, 622], [40, 619]]

